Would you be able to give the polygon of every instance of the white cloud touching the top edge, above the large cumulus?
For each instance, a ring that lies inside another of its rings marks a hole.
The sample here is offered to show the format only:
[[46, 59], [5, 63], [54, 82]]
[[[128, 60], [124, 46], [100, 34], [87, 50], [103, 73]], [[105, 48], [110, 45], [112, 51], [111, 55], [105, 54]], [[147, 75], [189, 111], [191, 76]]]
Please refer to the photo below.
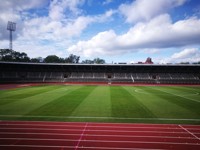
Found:
[[120, 12], [129, 23], [149, 21], [150, 19], [166, 13], [169, 9], [184, 4], [187, 0], [136, 0], [131, 4], [122, 4]]

